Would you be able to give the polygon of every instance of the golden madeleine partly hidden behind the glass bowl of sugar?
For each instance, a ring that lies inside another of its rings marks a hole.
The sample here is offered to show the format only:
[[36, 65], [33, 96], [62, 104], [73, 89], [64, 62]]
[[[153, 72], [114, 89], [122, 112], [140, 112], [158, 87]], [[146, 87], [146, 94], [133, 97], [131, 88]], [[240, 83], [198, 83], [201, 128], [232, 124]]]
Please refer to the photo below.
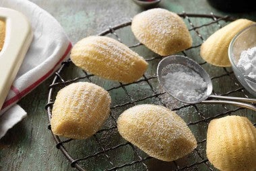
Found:
[[212, 34], [201, 45], [201, 57], [215, 66], [231, 66], [228, 59], [228, 46], [234, 36], [245, 27], [253, 24], [248, 19], [237, 19]]

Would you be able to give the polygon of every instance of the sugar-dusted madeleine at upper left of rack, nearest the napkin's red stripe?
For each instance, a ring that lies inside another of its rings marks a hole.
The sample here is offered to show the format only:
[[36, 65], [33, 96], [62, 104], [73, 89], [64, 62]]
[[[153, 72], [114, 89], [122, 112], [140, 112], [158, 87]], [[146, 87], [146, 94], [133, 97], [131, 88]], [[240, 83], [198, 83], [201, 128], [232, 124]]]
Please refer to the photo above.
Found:
[[89, 36], [71, 50], [71, 60], [82, 69], [110, 80], [129, 83], [139, 79], [148, 63], [113, 38]]

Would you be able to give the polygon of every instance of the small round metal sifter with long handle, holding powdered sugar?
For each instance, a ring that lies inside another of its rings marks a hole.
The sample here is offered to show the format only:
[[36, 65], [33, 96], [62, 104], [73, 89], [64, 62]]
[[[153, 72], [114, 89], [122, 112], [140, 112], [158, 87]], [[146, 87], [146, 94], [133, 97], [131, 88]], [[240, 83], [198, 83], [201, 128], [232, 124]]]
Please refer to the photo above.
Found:
[[[197, 74], [199, 74], [199, 76], [201, 76], [201, 78], [203, 78], [203, 80], [207, 84], [207, 89], [203, 91], [202, 97], [195, 97], [196, 99], [194, 101], [187, 101], [186, 99], [180, 99], [170, 91], [172, 87], [167, 87], [166, 82], [164, 82], [163, 80], [163, 76], [166, 76], [166, 74], [170, 72], [177, 72], [179, 68], [183, 68], [183, 70], [186, 70], [186, 72], [196, 72]], [[175, 99], [182, 101], [184, 103], [189, 103], [189, 104], [215, 103], [215, 104], [236, 105], [239, 107], [246, 107], [248, 109], [252, 109], [256, 111], [255, 106], [249, 105], [247, 103], [241, 103], [241, 102], [256, 103], [256, 99], [212, 95], [212, 80], [209, 74], [207, 74], [207, 72], [199, 64], [197, 64], [197, 62], [195, 62], [194, 60], [188, 57], [179, 56], [179, 55], [165, 57], [158, 64], [157, 75], [158, 75], [158, 80], [162, 85], [162, 87], [164, 88], [164, 90]], [[218, 99], [218, 100], [213, 100], [213, 99]]]

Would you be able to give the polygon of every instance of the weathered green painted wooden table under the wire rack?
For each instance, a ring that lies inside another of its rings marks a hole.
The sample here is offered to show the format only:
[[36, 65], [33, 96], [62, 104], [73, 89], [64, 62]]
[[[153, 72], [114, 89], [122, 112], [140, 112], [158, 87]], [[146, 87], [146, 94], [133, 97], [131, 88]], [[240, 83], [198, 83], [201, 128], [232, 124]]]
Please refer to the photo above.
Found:
[[[135, 3], [133, 3], [131, 0], [32, 1], [46, 11], [49, 11], [49, 13], [51, 13], [59, 21], [59, 23], [63, 25], [67, 35], [73, 43], [86, 36], [98, 34], [103, 30], [108, 29], [109, 26], [129, 21], [129, 19], [131, 19], [135, 14], [144, 10], [143, 8], [135, 5]], [[213, 12], [216, 15], [231, 15], [232, 17], [238, 18], [245, 17], [247, 19], [256, 21], [256, 12], [224, 13], [212, 8], [205, 0], [162, 0], [159, 7], [177, 13], [186, 11], [187, 13], [210, 14]], [[205, 22], [205, 19], [195, 19], [193, 22], [195, 22], [196, 25], [200, 25]], [[187, 24], [189, 25], [189, 23]], [[126, 32], [127, 31], [120, 32], [119, 34], [125, 40], [129, 40], [129, 36], [127, 36]], [[212, 34], [212, 32], [214, 32], [212, 27], [205, 27], [200, 30], [201, 36], [203, 36], [204, 39]], [[194, 40], [194, 43], [199, 43], [199, 40]], [[143, 47], [138, 48], [137, 52], [143, 56], [149, 56], [148, 58], [156, 55]], [[199, 50], [197, 52], [188, 51], [187, 55], [197, 60], [197, 62], [203, 62], [203, 60], [201, 60], [199, 57]], [[150, 62], [150, 66], [152, 68], [150, 71], [148, 71], [148, 73], [154, 74], [154, 69], [156, 68], [158, 61], [159, 59], [154, 62]], [[224, 70], [223, 68], [210, 66], [210, 64], [204, 64], [203, 67], [207, 70], [207, 72], [210, 73], [212, 77], [216, 76], [216, 78], [213, 80], [214, 91], [216, 93], [223, 94], [239, 87], [239, 84], [236, 84], [237, 80], [234, 77], [234, 74], [232, 74], [231, 68], [226, 68], [226, 70]], [[65, 75], [67, 77], [72, 77], [79, 75], [79, 73], [80, 71], [77, 68], [70, 66], [68, 72], [65, 72]], [[217, 78], [219, 75], [222, 76]], [[60, 150], [57, 150], [55, 147], [55, 141], [51, 135], [51, 131], [47, 129], [49, 121], [44, 106], [46, 105], [46, 99], [49, 93], [48, 87], [52, 80], [53, 76], [40, 84], [38, 88], [24, 97], [24, 99], [18, 103], [28, 112], [28, 117], [15, 125], [15, 127], [9, 130], [7, 135], [0, 140], [0, 170], [75, 170], [74, 168], [71, 168], [70, 163], [63, 156]], [[93, 78], [93, 81], [102, 85], [106, 89], [113, 86], [113, 84], [116, 84], [116, 82], [112, 84], [111, 82], [102, 80], [100, 78]], [[152, 85], [154, 85], [154, 87], [156, 87], [156, 89], [161, 91], [161, 89], [158, 87], [156, 79], [152, 79], [150, 82]], [[140, 89], [140, 91], [136, 91], [137, 89]], [[150, 90], [146, 88], [144, 83], [139, 83], [137, 85], [127, 87], [127, 91], [131, 93], [132, 98], [136, 101], [137, 97], [143, 96], [144, 94], [148, 95], [148, 91]], [[231, 95], [240, 97], [248, 95], [250, 97], [249, 93], [243, 90], [230, 93], [230, 96]], [[128, 98], [129, 100], [129, 97], [125, 97], [125, 93], [121, 92], [119, 89], [117, 89], [117, 91], [113, 91], [111, 96], [113, 98], [113, 105], [120, 101], [125, 103], [127, 100], [125, 98]], [[168, 97], [166, 97], [166, 95], [162, 95], [161, 98], [163, 101], [168, 101]], [[154, 101], [139, 101], [136, 104], [139, 103], [154, 103]], [[173, 103], [168, 103], [168, 107], [173, 109]], [[114, 113], [117, 113], [118, 115], [123, 110], [124, 108], [117, 109], [117, 111]], [[201, 116], [198, 115], [198, 111], [200, 111], [199, 114]], [[236, 111], [235, 107], [223, 107], [222, 105], [195, 105], [180, 109], [178, 113], [181, 115], [181, 117], [183, 117], [183, 119], [185, 119], [187, 123], [198, 121], [199, 117], [202, 116], [207, 118], [218, 115], [218, 113], [245, 115], [249, 117], [253, 123], [256, 122], [255, 112], [245, 109]], [[111, 121], [108, 121], [106, 127], [112, 124], [110, 122]], [[190, 128], [197, 136], [198, 141], [200, 141], [200, 138], [205, 138], [208, 122], [209, 120], [195, 125], [191, 124]], [[100, 135], [97, 136], [99, 139], [102, 138], [100, 141], [105, 141], [105, 143], [109, 139], [109, 144], [103, 144], [102, 146], [112, 146], [113, 144], [117, 143], [110, 140], [110, 138], [118, 139], [119, 144], [124, 141], [123, 139], [119, 138], [117, 131], [113, 132], [111, 135], [104, 135], [104, 133], [102, 133], [102, 137], [100, 137]], [[202, 146], [205, 146], [205, 141], [203, 141], [201, 144]], [[72, 141], [72, 144], [67, 144], [69, 153], [77, 157], [86, 156], [88, 152], [96, 152], [98, 150], [97, 148], [98, 147], [96, 144], [94, 144], [94, 141], [90, 139], [87, 141]], [[115, 166], [119, 166], [122, 163], [129, 163], [135, 160], [134, 156], [131, 154], [131, 151], [132, 150], [123, 148], [122, 150], [119, 150], [118, 153], [113, 152], [113, 154], [111, 154], [110, 152], [108, 156], [110, 156]], [[146, 154], [143, 154], [139, 150], [138, 152], [140, 156], [146, 157]], [[178, 160], [176, 165], [181, 167], [191, 165], [195, 162], [195, 160], [197, 160], [197, 164], [187, 170], [210, 170], [209, 167], [214, 169], [214, 167], [210, 166], [209, 163], [205, 163], [205, 161], [203, 161], [205, 159], [205, 150], [203, 148], [200, 149], [199, 147], [196, 155], [197, 157], [191, 154], [185, 159]], [[88, 168], [88, 170], [103, 170], [102, 167], [104, 166], [113, 168], [113, 166], [108, 164], [105, 157], [106, 156], [104, 155], [97, 156], [88, 162], [82, 163], [82, 165]], [[152, 159], [146, 160], [145, 163], [148, 165], [150, 170], [172, 170], [172, 168], [174, 169], [177, 167], [173, 163], [160, 162], [159, 160]], [[184, 169], [186, 170], [186, 168]], [[145, 168], [139, 163], [131, 164], [131, 166], [124, 167], [122, 170], [145, 170]]]

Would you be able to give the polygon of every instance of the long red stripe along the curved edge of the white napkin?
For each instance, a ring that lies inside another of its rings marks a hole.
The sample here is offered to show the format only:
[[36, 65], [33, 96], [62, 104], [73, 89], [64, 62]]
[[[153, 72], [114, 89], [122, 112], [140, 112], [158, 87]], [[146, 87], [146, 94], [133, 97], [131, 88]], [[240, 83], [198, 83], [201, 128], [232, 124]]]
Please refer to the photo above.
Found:
[[69, 51], [72, 48], [72, 44], [71, 42], [69, 43], [69, 46], [67, 47], [67, 50], [65, 51], [65, 54], [63, 54], [63, 56], [61, 57], [61, 59], [57, 62], [57, 64], [55, 64], [55, 66], [53, 66], [53, 68], [51, 70], [49, 70], [49, 72], [47, 72], [46, 74], [44, 74], [44, 76], [42, 76], [41, 78], [39, 78], [38, 80], [36, 80], [36, 82], [34, 82], [33, 84], [31, 84], [29, 87], [27, 87], [26, 89], [24, 89], [22, 92], [18, 93], [17, 95], [15, 95], [15, 97], [12, 97], [11, 99], [9, 99], [8, 101], [5, 101], [5, 103], [3, 103], [3, 107], [2, 109], [5, 109], [5, 107], [8, 107], [9, 105], [11, 105], [12, 103], [20, 100], [20, 97], [23, 97], [24, 95], [26, 95], [27, 93], [29, 93], [30, 91], [32, 91], [32, 89], [34, 89], [36, 86], [38, 86], [38, 84], [40, 84], [40, 82], [42, 82], [43, 80], [45, 80], [47, 77], [49, 77], [52, 72], [55, 70], [56, 66], [58, 66], [63, 60], [64, 58], [67, 56], [67, 54], [69, 53]]

